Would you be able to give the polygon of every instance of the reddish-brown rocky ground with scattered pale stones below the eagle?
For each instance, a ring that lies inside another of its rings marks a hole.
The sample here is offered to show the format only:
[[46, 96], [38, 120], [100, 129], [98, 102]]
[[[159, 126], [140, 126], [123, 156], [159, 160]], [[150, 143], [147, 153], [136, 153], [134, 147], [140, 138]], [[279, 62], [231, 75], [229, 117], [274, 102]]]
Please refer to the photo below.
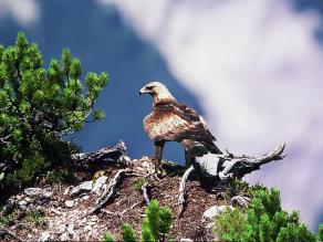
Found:
[[[147, 160], [135, 160], [142, 169], [149, 167]], [[165, 165], [166, 166], [166, 165]], [[164, 166], [164, 167], [165, 167]], [[168, 166], [168, 165], [167, 165]], [[216, 240], [212, 232], [212, 217], [222, 206], [231, 203], [223, 189], [204, 189], [199, 181], [187, 181], [187, 208], [178, 218], [178, 190], [184, 169], [166, 166], [165, 177], [149, 181], [149, 199], [168, 206], [174, 212], [174, 227], [169, 239], [210, 241]], [[144, 168], [143, 168], [144, 167]], [[117, 167], [111, 167], [96, 175], [79, 175], [79, 181], [71, 185], [55, 183], [27, 188], [12, 196], [6, 203], [0, 219], [0, 239], [22, 241], [102, 241], [105, 232], [119, 240], [119, 230], [127, 222], [140, 234], [145, 214], [145, 201], [140, 176], [127, 176], [121, 180], [117, 192], [97, 213], [88, 211], [97, 204], [98, 198], [113, 180]], [[93, 177], [95, 177], [93, 179]]]

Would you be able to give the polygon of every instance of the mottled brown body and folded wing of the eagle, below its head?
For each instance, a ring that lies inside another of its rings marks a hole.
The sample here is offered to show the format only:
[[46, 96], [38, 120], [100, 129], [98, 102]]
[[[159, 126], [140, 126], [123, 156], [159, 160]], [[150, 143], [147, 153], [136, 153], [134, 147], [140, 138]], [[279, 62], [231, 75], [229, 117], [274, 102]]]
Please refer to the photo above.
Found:
[[176, 101], [157, 103], [144, 120], [148, 136], [155, 140], [181, 141], [192, 139], [212, 144], [216, 138], [198, 113]]

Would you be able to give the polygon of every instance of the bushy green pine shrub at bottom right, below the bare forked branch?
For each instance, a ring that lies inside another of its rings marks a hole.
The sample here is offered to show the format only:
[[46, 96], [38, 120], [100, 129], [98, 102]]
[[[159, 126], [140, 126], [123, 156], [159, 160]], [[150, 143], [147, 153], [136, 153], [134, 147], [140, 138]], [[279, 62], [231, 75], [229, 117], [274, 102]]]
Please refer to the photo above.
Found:
[[251, 208], [228, 210], [216, 218], [216, 233], [223, 241], [289, 242], [315, 241], [315, 235], [300, 222], [296, 212], [282, 210], [280, 192], [258, 188], [252, 192]]

